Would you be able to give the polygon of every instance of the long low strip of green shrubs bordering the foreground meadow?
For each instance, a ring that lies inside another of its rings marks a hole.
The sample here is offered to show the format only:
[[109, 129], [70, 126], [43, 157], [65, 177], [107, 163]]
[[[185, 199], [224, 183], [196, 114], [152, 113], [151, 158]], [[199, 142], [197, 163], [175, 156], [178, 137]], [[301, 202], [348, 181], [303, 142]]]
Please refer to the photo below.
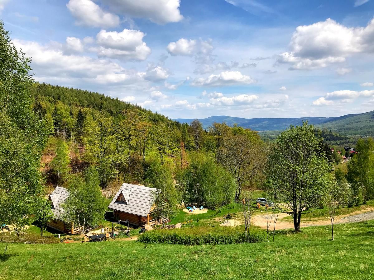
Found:
[[184, 227], [146, 231], [138, 238], [145, 243], [168, 243], [182, 245], [234, 244], [261, 242], [266, 239], [264, 230], [251, 229], [245, 236], [243, 227]]

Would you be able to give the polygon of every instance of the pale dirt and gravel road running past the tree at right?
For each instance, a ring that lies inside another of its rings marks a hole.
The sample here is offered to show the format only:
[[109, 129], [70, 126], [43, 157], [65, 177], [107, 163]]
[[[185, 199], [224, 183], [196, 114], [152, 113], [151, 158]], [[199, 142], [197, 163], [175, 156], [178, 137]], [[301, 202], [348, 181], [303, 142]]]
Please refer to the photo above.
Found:
[[[283, 230], [288, 228], [294, 228], [294, 223], [292, 220], [284, 220], [283, 218], [289, 216], [286, 213], [279, 213], [278, 220], [276, 222], [276, 230]], [[270, 222], [271, 213], [268, 214], [268, 220]], [[356, 222], [362, 222], [362, 221], [368, 221], [368, 220], [374, 220], [374, 208], [369, 207], [365, 210], [356, 211], [349, 215], [341, 215], [336, 216], [334, 224], [341, 224], [341, 223], [356, 223]], [[261, 215], [255, 215], [252, 217], [252, 223], [254, 225], [257, 225], [258, 227], [266, 228], [267, 222], [266, 222], [266, 213]], [[324, 217], [319, 219], [309, 219], [306, 222], [303, 222], [301, 220], [300, 227], [311, 227], [314, 225], [329, 225], [331, 223], [330, 217]], [[274, 221], [272, 220], [270, 222], [269, 229], [274, 228]]]

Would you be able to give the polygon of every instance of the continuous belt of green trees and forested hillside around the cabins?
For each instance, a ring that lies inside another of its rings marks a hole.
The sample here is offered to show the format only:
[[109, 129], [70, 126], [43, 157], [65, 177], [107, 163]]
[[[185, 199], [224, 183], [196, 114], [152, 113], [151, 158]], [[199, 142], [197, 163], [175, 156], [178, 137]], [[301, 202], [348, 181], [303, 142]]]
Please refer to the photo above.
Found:
[[[328, 187], [339, 188], [347, 205], [374, 197], [371, 138], [346, 154], [344, 138], [307, 122], [264, 140], [237, 125], [203, 129], [198, 120], [181, 124], [104, 94], [38, 83], [2, 23], [0, 71], [1, 224], [45, 224], [46, 195], [56, 186], [76, 194], [74, 205], [90, 193], [87, 203], [100, 215], [82, 214], [91, 217], [88, 228], [106, 210], [103, 197], [111, 199], [123, 182], [160, 189], [170, 216], [181, 202], [215, 209], [266, 189], [274, 200], [291, 200], [295, 230]], [[347, 164], [343, 153], [352, 156]], [[298, 197], [289, 199], [290, 192]]]

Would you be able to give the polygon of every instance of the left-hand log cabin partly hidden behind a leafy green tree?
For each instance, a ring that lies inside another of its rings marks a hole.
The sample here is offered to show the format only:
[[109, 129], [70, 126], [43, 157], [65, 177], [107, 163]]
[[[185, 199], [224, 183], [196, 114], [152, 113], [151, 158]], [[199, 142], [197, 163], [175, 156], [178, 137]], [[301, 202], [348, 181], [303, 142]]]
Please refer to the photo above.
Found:
[[53, 219], [48, 222], [47, 227], [63, 233], [77, 234], [80, 233], [80, 228], [74, 227], [74, 224], [67, 224], [62, 219], [64, 213], [62, 204], [66, 202], [68, 196], [68, 190], [63, 187], [56, 187], [56, 189], [49, 195], [48, 199], [51, 201]]

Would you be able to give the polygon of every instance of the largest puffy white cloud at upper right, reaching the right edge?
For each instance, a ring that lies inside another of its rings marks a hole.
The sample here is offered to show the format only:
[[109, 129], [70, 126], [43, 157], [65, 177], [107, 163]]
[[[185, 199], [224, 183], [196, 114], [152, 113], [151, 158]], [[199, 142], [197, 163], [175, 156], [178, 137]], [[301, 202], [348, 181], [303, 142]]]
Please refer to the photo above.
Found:
[[290, 69], [314, 69], [344, 62], [355, 53], [374, 51], [374, 19], [366, 27], [346, 27], [332, 19], [296, 28], [290, 51], [282, 53], [279, 63]]

